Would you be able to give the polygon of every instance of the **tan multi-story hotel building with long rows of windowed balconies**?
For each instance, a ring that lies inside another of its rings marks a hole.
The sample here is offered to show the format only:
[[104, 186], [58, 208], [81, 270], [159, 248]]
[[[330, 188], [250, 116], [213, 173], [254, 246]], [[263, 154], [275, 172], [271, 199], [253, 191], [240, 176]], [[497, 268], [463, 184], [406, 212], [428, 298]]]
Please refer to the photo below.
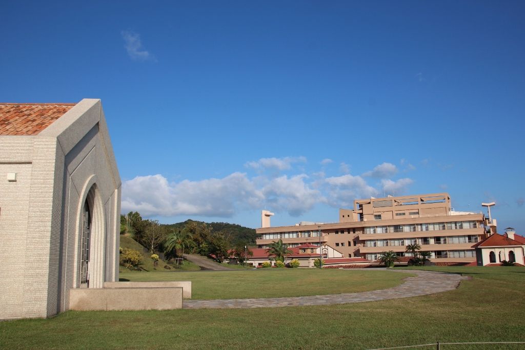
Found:
[[272, 215], [263, 214], [263, 227], [256, 230], [259, 248], [282, 239], [290, 247], [326, 244], [343, 257], [367, 260], [388, 250], [410, 256], [406, 246], [417, 243], [434, 261], [475, 261], [472, 246], [486, 237], [486, 228], [494, 232], [496, 225], [481, 212], [454, 211], [447, 193], [357, 199], [353, 209], [339, 209], [339, 222], [329, 224], [270, 227], [268, 214]]

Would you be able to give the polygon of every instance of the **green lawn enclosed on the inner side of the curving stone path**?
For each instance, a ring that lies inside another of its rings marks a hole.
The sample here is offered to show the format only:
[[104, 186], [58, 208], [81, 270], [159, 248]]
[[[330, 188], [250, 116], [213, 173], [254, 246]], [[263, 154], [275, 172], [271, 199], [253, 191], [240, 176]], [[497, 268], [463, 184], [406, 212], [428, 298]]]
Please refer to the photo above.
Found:
[[394, 287], [405, 277], [405, 274], [387, 271], [335, 269], [120, 273], [121, 279], [130, 281], [192, 281], [192, 299], [273, 298], [364, 292]]

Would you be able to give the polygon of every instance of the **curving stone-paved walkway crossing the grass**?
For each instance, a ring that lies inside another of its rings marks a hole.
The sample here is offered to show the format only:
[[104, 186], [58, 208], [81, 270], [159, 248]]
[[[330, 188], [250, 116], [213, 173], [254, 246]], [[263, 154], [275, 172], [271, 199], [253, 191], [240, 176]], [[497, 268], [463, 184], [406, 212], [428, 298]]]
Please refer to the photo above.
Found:
[[[359, 269], [362, 270], [362, 269]], [[369, 270], [369, 269], [367, 269]], [[379, 269], [377, 269], [379, 270]], [[386, 270], [386, 269], [382, 269]], [[370, 271], [370, 270], [369, 270]], [[311, 296], [293, 296], [291, 298], [264, 299], [217, 299], [217, 300], [184, 300], [184, 309], [250, 309], [253, 307], [309, 306], [361, 303], [365, 301], [409, 298], [456, 289], [461, 280], [468, 277], [455, 273], [433, 272], [422, 270], [388, 270], [392, 273], [412, 273], [402, 284], [388, 289], [370, 292], [329, 294]]]

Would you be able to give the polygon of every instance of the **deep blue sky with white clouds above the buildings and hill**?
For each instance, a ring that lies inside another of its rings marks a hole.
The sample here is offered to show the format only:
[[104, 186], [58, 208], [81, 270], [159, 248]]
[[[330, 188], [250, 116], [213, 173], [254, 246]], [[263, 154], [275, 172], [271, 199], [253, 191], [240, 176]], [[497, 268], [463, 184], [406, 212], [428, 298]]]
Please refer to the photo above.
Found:
[[102, 99], [123, 211], [291, 225], [446, 191], [525, 233], [522, 1], [0, 9], [0, 100]]

